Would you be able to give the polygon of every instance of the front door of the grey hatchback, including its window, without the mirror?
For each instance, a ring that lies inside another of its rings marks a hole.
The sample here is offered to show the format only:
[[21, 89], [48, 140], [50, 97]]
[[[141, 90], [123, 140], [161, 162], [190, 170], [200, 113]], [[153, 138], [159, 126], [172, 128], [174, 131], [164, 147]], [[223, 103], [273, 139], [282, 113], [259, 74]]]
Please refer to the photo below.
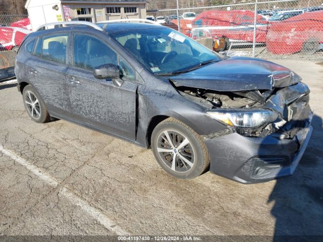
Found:
[[[99, 80], [93, 69], [103, 64], [119, 66], [121, 86], [111, 79]], [[133, 69], [106, 42], [74, 34], [73, 67], [67, 72], [73, 118], [87, 126], [135, 140], [136, 90]]]

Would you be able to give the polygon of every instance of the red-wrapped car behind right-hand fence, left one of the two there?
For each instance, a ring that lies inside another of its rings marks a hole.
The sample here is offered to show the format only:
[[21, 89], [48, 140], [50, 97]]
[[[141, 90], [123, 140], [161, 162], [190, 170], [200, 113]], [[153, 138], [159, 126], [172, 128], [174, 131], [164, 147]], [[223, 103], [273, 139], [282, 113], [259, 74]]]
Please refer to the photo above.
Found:
[[[266, 39], [268, 22], [256, 15], [256, 42], [264, 43]], [[209, 10], [198, 15], [192, 22], [192, 37], [212, 36], [214, 41], [225, 39], [222, 49], [228, 49], [231, 43], [251, 44], [253, 42], [254, 12], [232, 10]], [[241, 43], [241, 42], [244, 43]]]

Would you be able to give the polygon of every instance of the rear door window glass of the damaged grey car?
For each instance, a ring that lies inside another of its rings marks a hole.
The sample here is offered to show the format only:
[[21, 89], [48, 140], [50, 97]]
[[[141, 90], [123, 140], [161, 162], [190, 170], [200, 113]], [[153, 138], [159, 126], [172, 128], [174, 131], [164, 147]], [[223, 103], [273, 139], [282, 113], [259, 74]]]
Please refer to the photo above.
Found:
[[68, 34], [52, 34], [38, 39], [35, 55], [48, 61], [66, 63]]

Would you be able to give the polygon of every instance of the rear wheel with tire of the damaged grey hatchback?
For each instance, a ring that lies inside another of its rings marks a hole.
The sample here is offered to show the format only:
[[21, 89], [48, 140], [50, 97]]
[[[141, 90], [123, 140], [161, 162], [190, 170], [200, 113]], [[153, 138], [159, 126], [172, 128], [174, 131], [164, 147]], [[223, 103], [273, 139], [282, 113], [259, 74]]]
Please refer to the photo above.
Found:
[[22, 96], [26, 111], [34, 122], [46, 123], [50, 121], [45, 104], [33, 87], [27, 85], [22, 92]]

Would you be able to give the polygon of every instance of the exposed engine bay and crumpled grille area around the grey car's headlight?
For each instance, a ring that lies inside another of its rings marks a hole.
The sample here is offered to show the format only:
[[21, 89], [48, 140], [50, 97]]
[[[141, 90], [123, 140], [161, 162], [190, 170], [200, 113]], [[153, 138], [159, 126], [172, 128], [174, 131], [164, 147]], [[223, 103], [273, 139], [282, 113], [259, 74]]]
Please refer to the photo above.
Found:
[[176, 86], [176, 84], [173, 86], [182, 96], [208, 109], [261, 108], [270, 109], [278, 114], [275, 122], [262, 125], [256, 129], [233, 129], [233, 132], [245, 136], [264, 137], [273, 134], [278, 139], [293, 139], [296, 133], [306, 126], [312, 113], [308, 105], [309, 89], [301, 82], [288, 87], [273, 88], [272, 90], [234, 92]]

